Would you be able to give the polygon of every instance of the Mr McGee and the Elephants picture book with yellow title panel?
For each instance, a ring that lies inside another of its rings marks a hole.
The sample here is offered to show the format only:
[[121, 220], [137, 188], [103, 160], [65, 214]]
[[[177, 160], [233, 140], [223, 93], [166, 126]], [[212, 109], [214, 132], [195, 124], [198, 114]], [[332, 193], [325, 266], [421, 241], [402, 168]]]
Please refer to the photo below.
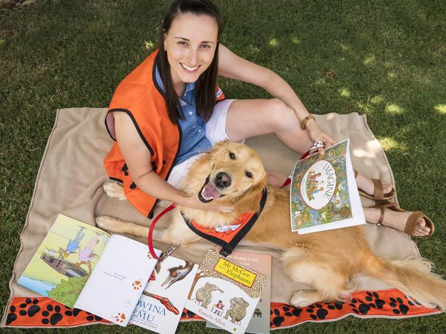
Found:
[[245, 333], [268, 276], [213, 250], [204, 256], [185, 307], [231, 333]]

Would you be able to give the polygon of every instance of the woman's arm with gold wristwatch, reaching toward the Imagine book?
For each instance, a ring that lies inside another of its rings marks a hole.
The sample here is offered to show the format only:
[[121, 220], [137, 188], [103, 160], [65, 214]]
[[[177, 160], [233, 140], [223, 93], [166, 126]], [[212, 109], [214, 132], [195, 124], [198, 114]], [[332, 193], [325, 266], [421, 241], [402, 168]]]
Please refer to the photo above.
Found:
[[[281, 99], [288, 107], [291, 107], [299, 122], [309, 115], [307, 108], [284, 79], [268, 68], [253, 64], [235, 55], [222, 44], [219, 47], [218, 73], [222, 77], [237, 79], [263, 88], [273, 97]], [[306, 128], [313, 140], [325, 142], [327, 145], [336, 143], [318, 127], [315, 120], [309, 120]]]

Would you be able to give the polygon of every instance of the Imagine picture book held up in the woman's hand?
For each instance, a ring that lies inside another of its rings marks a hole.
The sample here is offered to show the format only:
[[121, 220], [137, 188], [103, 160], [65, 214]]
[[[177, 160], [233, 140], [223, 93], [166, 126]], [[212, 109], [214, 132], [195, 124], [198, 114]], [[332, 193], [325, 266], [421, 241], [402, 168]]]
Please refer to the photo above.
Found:
[[305, 234], [365, 224], [349, 139], [299, 160], [290, 188], [291, 229]]

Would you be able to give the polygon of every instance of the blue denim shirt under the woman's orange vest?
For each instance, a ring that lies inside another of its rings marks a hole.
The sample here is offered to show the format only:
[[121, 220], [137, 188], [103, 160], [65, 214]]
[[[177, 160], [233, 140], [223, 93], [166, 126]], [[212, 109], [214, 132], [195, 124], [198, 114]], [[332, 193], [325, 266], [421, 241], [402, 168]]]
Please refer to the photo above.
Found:
[[[163, 80], [156, 68], [156, 83], [164, 90]], [[195, 107], [195, 83], [189, 82], [183, 97], [180, 99], [180, 105], [183, 107], [184, 120], [179, 120], [181, 128], [180, 152], [174, 161], [174, 165], [180, 164], [189, 157], [198, 153], [206, 152], [211, 149], [211, 142], [206, 138], [206, 124], [202, 117], [197, 115]]]

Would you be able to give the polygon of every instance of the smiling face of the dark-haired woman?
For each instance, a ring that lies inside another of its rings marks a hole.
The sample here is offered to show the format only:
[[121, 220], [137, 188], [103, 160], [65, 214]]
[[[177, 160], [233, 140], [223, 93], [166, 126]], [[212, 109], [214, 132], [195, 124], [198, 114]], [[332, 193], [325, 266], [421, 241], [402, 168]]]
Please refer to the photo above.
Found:
[[218, 25], [207, 15], [180, 14], [164, 34], [174, 86], [195, 82], [213, 60]]

